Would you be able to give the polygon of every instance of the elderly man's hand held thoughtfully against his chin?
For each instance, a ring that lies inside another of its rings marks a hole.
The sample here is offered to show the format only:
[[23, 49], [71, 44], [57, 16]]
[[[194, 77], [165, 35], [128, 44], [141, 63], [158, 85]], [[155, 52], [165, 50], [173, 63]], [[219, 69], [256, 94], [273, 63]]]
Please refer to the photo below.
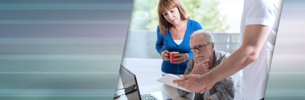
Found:
[[199, 62], [195, 59], [194, 68], [191, 74], [198, 74], [203, 75], [209, 71], [208, 62], [209, 59], [204, 59], [203, 61]]

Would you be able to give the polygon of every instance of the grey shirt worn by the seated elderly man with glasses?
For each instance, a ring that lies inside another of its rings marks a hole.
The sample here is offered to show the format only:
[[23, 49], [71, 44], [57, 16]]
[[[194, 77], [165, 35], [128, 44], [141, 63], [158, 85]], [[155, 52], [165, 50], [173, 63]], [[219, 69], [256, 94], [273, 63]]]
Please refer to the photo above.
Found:
[[[218, 66], [222, 61], [224, 61], [225, 58], [227, 58], [230, 54], [223, 52], [223, 51], [214, 51], [214, 65], [212, 66], [211, 70], [214, 69], [216, 66]], [[188, 63], [188, 68], [186, 69], [185, 75], [189, 75], [192, 72], [192, 69], [194, 67], [194, 57], [192, 57]], [[233, 79], [231, 77], [228, 77], [224, 80], [221, 80], [208, 90], [208, 92], [204, 92], [207, 94], [200, 94], [195, 93], [194, 100], [205, 100], [204, 95], [208, 95], [207, 98], [214, 100], [214, 99], [233, 99], [234, 98], [234, 83]], [[178, 93], [180, 96], [186, 96], [190, 92], [178, 89]]]

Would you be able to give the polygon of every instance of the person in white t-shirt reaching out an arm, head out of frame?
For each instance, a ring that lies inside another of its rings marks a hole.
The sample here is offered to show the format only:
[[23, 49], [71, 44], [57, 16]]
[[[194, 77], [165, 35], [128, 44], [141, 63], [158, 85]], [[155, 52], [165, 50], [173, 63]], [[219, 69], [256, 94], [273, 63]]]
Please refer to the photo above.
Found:
[[174, 80], [173, 83], [192, 92], [203, 93], [216, 82], [242, 70], [243, 99], [264, 99], [270, 68], [267, 64], [267, 42], [275, 41], [268, 37], [274, 35], [270, 32], [273, 24], [278, 23], [276, 16], [278, 10], [271, 1], [245, 0], [240, 25], [241, 46], [214, 70], [204, 75], [183, 75], [180, 78], [184, 80]]

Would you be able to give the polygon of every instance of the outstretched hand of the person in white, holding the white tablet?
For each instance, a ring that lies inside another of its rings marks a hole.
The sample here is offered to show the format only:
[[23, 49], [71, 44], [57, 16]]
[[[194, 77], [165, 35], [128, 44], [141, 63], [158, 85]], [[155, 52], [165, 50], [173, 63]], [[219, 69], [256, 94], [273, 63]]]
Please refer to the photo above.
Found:
[[205, 91], [211, 89], [214, 84], [204, 85], [202, 84], [202, 79], [200, 75], [181, 75], [182, 80], [174, 80], [173, 83], [177, 83], [178, 86], [183, 87], [191, 92], [204, 93]]

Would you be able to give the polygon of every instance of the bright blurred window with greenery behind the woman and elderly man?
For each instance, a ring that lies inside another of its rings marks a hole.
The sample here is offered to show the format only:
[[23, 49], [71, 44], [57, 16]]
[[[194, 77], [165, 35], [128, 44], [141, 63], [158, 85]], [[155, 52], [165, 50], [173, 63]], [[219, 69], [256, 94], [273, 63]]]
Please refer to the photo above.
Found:
[[[216, 48], [231, 53], [239, 45], [242, 1], [181, 1], [187, 15], [215, 36]], [[160, 59], [156, 51], [158, 1], [136, 0], [126, 39], [124, 58]], [[234, 8], [232, 7], [234, 5]]]

